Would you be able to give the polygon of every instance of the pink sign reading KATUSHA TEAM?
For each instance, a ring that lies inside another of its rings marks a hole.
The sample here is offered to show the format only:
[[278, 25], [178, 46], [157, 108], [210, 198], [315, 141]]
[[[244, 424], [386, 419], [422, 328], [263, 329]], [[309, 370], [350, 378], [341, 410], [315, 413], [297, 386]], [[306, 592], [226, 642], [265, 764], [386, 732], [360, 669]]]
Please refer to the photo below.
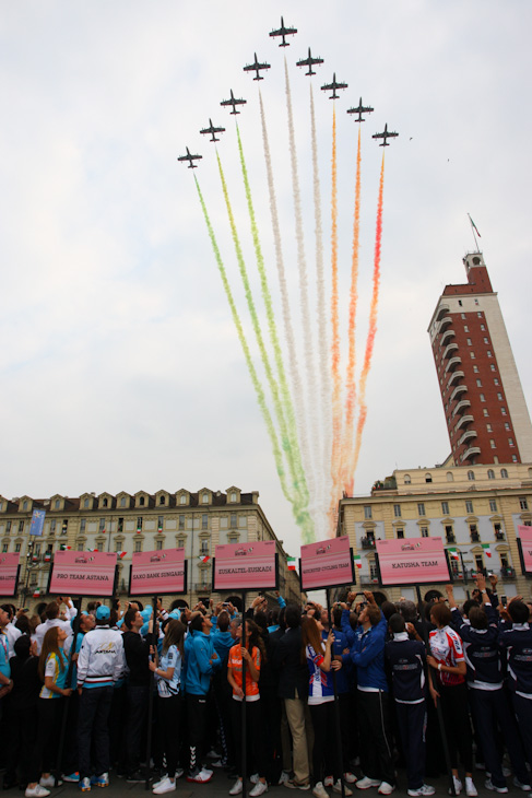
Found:
[[441, 538], [377, 540], [382, 585], [428, 585], [450, 582]]

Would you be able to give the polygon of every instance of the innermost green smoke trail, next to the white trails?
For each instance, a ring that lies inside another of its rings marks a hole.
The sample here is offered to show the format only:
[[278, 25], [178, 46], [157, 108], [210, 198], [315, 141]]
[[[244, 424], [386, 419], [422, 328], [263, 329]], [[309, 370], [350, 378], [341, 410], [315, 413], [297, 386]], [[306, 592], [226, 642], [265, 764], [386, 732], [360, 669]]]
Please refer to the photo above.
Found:
[[[275, 365], [277, 367], [277, 375], [279, 375], [279, 382], [281, 387], [281, 396], [283, 400], [283, 407], [287, 415], [287, 429], [286, 433], [288, 436], [288, 448], [286, 449], [286, 457], [288, 460], [288, 463], [291, 466], [291, 471], [294, 476], [294, 486], [296, 491], [302, 496], [302, 502], [305, 504], [308, 503], [308, 488], [305, 480], [305, 472], [303, 469], [303, 462], [302, 457], [299, 453], [299, 445], [297, 442], [297, 429], [296, 429], [296, 420], [295, 420], [295, 413], [294, 413], [294, 406], [292, 402], [292, 396], [288, 388], [288, 383], [286, 380], [286, 372], [284, 368], [283, 363], [283, 353], [281, 350], [281, 344], [279, 342], [279, 336], [277, 336], [277, 329], [275, 325], [275, 315], [273, 312], [272, 306], [272, 297], [270, 293], [270, 287], [268, 285], [268, 277], [267, 271], [264, 268], [264, 258], [262, 255], [262, 248], [260, 246], [260, 239], [259, 239], [259, 228], [257, 226], [257, 220], [255, 215], [255, 209], [253, 209], [253, 202], [251, 199], [251, 188], [249, 185], [249, 177], [248, 177], [248, 171], [246, 166], [246, 159], [244, 156], [244, 148], [241, 143], [240, 138], [240, 131], [238, 129], [238, 125], [236, 126], [236, 132], [238, 137], [238, 151], [240, 154], [240, 165], [243, 171], [243, 178], [244, 178], [244, 186], [246, 189], [246, 199], [248, 203], [248, 212], [249, 212], [249, 221], [251, 224], [251, 236], [253, 239], [253, 246], [255, 246], [255, 254], [257, 258], [257, 268], [259, 270], [260, 274], [260, 284], [261, 284], [261, 291], [262, 291], [262, 298], [264, 301], [264, 307], [267, 310], [267, 318], [268, 318], [268, 326], [270, 330], [270, 340], [272, 342], [272, 348], [274, 352], [275, 357]], [[283, 415], [279, 414], [280, 416], [280, 424], [283, 430], [283, 422], [284, 418]]]

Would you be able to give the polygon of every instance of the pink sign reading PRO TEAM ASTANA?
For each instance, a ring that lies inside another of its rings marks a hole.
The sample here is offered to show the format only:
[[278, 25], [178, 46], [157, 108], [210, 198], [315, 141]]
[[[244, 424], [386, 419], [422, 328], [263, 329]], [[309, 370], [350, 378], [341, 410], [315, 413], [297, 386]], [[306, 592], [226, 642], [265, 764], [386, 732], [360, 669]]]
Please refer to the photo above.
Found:
[[57, 551], [49, 592], [58, 596], [113, 596], [116, 552]]

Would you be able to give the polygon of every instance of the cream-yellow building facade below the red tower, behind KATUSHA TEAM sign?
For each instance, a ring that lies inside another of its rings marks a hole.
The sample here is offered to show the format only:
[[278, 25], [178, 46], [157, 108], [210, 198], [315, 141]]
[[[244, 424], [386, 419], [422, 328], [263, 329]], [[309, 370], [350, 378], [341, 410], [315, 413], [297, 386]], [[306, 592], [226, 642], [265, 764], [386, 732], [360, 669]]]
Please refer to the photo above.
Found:
[[376, 482], [369, 496], [340, 502], [338, 535], [348, 535], [360, 556], [357, 589], [415, 600], [414, 587], [379, 587], [376, 541], [439, 537], [459, 555], [451, 560], [458, 598], [474, 587], [478, 571], [498, 576], [499, 596], [530, 597], [532, 580], [521, 573], [517, 527], [532, 525], [531, 511], [532, 463], [397, 470]]

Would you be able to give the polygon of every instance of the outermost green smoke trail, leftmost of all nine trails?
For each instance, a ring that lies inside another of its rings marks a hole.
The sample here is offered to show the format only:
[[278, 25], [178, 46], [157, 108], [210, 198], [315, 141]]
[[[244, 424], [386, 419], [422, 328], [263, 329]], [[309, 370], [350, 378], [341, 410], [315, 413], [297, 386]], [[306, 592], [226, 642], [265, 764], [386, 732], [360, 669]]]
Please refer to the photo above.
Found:
[[260, 410], [262, 412], [262, 416], [263, 416], [264, 422], [265, 422], [265, 425], [267, 425], [268, 434], [270, 435], [270, 441], [271, 441], [272, 448], [273, 448], [273, 457], [275, 459], [275, 466], [276, 466], [276, 469], [277, 469], [277, 474], [279, 474], [280, 482], [281, 482], [281, 488], [282, 488], [282, 491], [283, 491], [284, 495], [288, 500], [288, 502], [292, 503], [293, 502], [293, 497], [289, 494], [288, 488], [286, 485], [286, 474], [285, 474], [284, 466], [283, 466], [283, 454], [282, 454], [281, 448], [279, 446], [277, 435], [276, 435], [276, 432], [275, 432], [275, 427], [273, 425], [272, 416], [270, 415], [270, 411], [268, 410], [268, 406], [267, 406], [265, 397], [264, 397], [264, 391], [262, 389], [262, 386], [260, 384], [260, 379], [259, 379], [259, 377], [257, 375], [257, 371], [256, 371], [256, 368], [253, 366], [253, 362], [251, 360], [251, 353], [249, 351], [248, 342], [246, 341], [246, 336], [244, 335], [244, 328], [241, 326], [241, 321], [240, 321], [240, 318], [238, 316], [238, 312], [236, 309], [235, 300], [233, 298], [233, 293], [230, 291], [229, 281], [227, 280], [227, 272], [225, 271], [225, 267], [224, 267], [224, 263], [222, 261], [222, 256], [220, 255], [220, 249], [218, 249], [218, 245], [216, 243], [216, 237], [214, 235], [214, 231], [212, 228], [211, 220], [209, 219], [209, 214], [208, 214], [208, 211], [206, 211], [206, 206], [205, 206], [205, 202], [203, 200], [203, 195], [201, 193], [200, 185], [199, 185], [198, 178], [196, 176], [194, 176], [194, 180], [196, 180], [196, 188], [198, 189], [198, 196], [200, 198], [201, 209], [203, 211], [203, 216], [205, 218], [206, 228], [209, 231], [209, 237], [211, 239], [212, 248], [213, 248], [213, 251], [214, 251], [214, 257], [216, 259], [216, 263], [217, 263], [217, 267], [218, 267], [218, 270], [220, 270], [220, 274], [222, 277], [222, 283], [223, 283], [224, 290], [225, 290], [225, 295], [227, 296], [227, 301], [228, 301], [229, 307], [230, 307], [230, 313], [233, 315], [233, 321], [235, 322], [236, 331], [238, 333], [238, 339], [240, 341], [240, 345], [241, 345], [243, 351], [244, 351], [244, 356], [246, 359], [246, 364], [247, 364], [248, 369], [249, 369], [249, 375], [251, 377], [251, 382], [253, 384], [255, 391], [257, 394], [257, 399], [258, 399], [258, 402], [259, 402], [259, 408], [260, 408]]

